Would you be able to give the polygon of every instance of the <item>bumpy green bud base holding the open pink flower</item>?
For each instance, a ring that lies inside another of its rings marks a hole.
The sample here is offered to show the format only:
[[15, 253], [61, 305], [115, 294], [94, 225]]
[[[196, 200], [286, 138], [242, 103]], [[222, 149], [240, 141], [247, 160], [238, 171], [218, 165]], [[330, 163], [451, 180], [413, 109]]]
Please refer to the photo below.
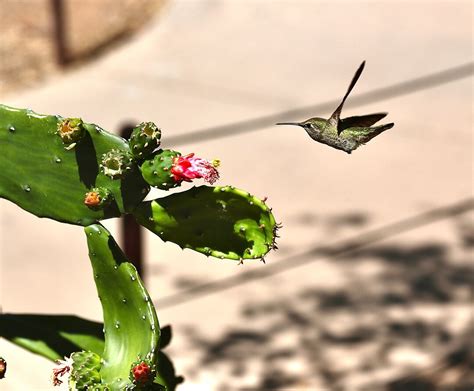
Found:
[[181, 156], [171, 149], [159, 150], [151, 160], [146, 160], [140, 167], [143, 178], [151, 185], [161, 190], [169, 190], [181, 183], [174, 180], [171, 167], [174, 158]]

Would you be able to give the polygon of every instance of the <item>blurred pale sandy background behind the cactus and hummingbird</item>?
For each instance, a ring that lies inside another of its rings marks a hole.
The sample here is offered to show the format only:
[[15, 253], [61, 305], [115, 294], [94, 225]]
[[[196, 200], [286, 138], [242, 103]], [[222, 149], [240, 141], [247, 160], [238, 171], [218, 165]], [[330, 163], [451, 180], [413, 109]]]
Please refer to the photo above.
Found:
[[[472, 390], [472, 15], [457, 0], [0, 0], [1, 102], [115, 133], [154, 121], [164, 147], [268, 196], [283, 229], [266, 264], [143, 232], [179, 389]], [[388, 111], [393, 129], [346, 155], [273, 126], [329, 116], [362, 60], [343, 114]], [[82, 229], [5, 200], [0, 284], [3, 312], [101, 320]], [[5, 340], [0, 355], [2, 390], [51, 389], [50, 362]]]

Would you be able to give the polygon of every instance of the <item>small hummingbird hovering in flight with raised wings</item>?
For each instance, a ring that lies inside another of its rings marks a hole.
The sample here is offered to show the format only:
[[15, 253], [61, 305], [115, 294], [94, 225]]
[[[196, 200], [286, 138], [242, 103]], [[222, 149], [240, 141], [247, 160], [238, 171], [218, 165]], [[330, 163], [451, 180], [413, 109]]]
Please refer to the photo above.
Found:
[[360, 64], [341, 103], [337, 106], [329, 119], [313, 117], [303, 122], [279, 122], [276, 125], [301, 126], [313, 140], [347, 153], [351, 153], [360, 145], [367, 143], [387, 129], [391, 129], [394, 125], [393, 122], [385, 125], [372, 126], [388, 113], [341, 118], [344, 103], [359, 80], [364, 67], [365, 61]]

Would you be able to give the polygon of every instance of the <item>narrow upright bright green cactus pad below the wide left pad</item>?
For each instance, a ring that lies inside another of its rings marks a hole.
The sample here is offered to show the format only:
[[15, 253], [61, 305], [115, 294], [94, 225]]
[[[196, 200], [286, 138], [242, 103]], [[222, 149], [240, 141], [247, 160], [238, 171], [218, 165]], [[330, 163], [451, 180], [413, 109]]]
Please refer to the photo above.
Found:
[[[155, 308], [135, 267], [100, 224], [85, 228], [105, 326], [100, 375], [111, 390], [129, 384], [130, 366], [138, 359], [156, 363], [160, 327]], [[120, 379], [120, 380], [119, 380]]]

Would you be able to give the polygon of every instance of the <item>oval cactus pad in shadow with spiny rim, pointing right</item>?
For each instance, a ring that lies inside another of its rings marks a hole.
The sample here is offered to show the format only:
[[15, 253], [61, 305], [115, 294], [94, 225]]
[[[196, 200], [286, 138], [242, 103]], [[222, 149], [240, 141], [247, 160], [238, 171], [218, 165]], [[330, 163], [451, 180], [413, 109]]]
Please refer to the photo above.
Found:
[[262, 200], [230, 186], [193, 187], [144, 202], [133, 215], [164, 241], [235, 260], [262, 258], [278, 228]]

